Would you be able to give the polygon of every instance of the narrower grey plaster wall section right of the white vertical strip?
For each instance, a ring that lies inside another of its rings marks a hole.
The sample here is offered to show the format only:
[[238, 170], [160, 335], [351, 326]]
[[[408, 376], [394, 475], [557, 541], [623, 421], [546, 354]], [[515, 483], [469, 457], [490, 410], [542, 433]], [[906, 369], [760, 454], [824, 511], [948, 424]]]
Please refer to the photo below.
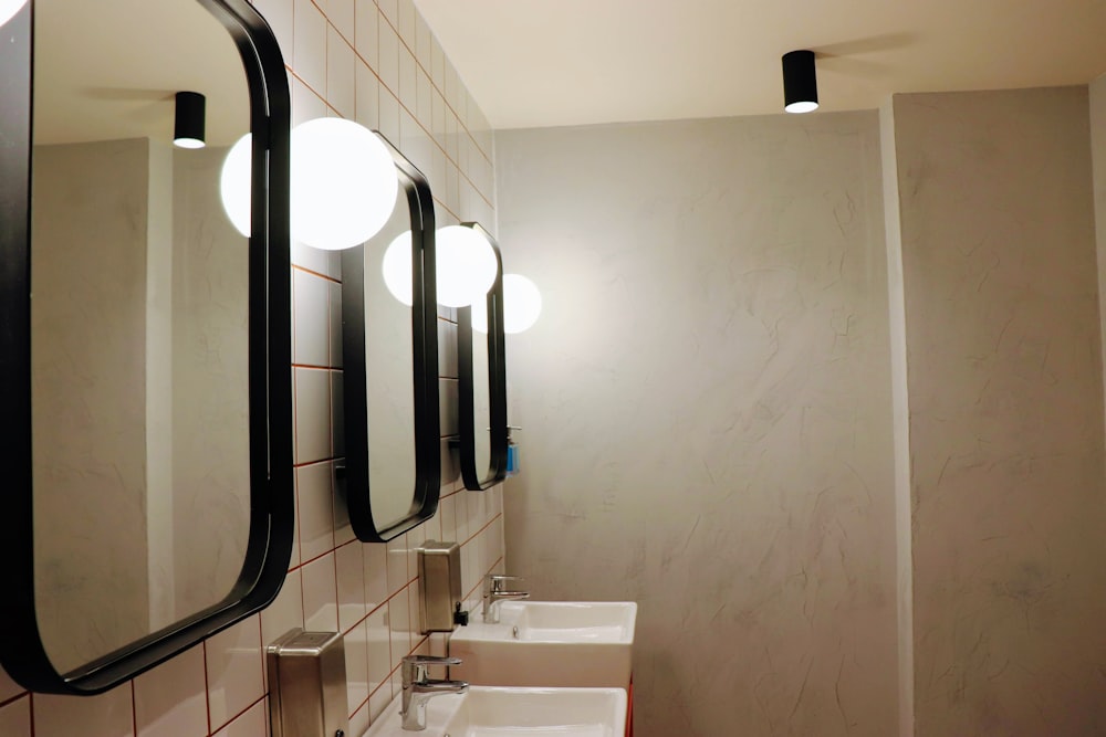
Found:
[[894, 106], [917, 734], [1104, 734], [1087, 90]]

